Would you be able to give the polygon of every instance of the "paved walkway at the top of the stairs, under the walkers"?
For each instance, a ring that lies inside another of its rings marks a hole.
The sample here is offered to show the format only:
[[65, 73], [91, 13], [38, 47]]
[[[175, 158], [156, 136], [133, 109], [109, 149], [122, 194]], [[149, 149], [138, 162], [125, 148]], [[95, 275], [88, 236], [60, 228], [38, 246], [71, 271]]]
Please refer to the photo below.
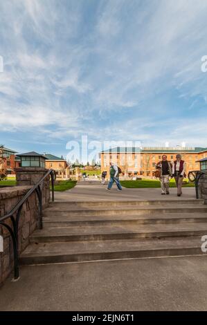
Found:
[[[171, 188], [170, 195], [161, 195], [161, 189], [127, 189], [123, 187], [122, 192], [118, 192], [116, 186], [111, 192], [106, 191], [107, 185], [98, 184], [78, 184], [73, 189], [65, 192], [55, 192], [55, 201], [101, 201], [101, 200], [177, 200], [177, 189]], [[194, 198], [195, 188], [184, 187], [181, 200]]]

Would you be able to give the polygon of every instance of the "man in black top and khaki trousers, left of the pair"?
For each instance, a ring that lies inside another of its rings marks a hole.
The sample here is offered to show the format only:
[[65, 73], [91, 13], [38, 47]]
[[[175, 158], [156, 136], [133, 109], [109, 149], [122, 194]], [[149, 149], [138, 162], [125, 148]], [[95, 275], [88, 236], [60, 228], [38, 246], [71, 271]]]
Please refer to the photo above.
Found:
[[160, 170], [161, 194], [169, 195], [170, 176], [172, 177], [172, 164], [166, 155], [162, 156], [162, 161], [156, 164], [156, 169]]

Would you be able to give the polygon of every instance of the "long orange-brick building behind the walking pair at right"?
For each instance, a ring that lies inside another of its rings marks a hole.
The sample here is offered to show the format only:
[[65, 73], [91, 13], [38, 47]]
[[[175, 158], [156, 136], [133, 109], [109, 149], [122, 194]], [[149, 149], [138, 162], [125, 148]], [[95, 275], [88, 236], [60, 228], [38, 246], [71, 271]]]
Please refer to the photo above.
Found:
[[186, 161], [186, 174], [188, 174], [190, 170], [199, 170], [198, 160], [207, 157], [207, 148], [116, 147], [100, 153], [101, 171], [107, 171], [107, 176], [109, 176], [109, 163], [114, 162], [120, 166], [125, 177], [140, 175], [152, 177], [156, 163], [161, 160], [163, 154], [167, 155], [168, 160], [172, 162], [176, 159], [177, 154], [181, 154], [182, 159]]

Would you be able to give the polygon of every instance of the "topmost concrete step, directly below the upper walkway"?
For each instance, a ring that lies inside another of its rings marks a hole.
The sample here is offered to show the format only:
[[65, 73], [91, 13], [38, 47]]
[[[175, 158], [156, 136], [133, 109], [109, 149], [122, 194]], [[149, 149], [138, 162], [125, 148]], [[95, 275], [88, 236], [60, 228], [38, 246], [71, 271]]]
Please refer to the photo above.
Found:
[[[93, 199], [93, 198], [91, 198]], [[142, 207], [142, 206], [151, 206], [151, 205], [204, 205], [204, 200], [199, 199], [172, 199], [172, 200], [141, 200], [141, 201], [132, 201], [132, 200], [123, 200], [123, 201], [61, 201], [61, 202], [51, 202], [47, 210], [73, 210], [78, 209], [78, 207]]]

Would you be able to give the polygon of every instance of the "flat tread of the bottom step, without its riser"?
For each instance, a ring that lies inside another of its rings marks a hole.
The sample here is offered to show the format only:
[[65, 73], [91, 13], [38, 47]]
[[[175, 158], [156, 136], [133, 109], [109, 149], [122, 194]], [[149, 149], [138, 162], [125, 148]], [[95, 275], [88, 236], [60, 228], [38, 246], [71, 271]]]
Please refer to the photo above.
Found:
[[161, 250], [173, 248], [201, 248], [201, 237], [181, 237], [180, 239], [119, 239], [109, 241], [71, 241], [55, 243], [31, 243], [21, 257], [87, 254], [92, 252], [122, 252], [133, 250]]

